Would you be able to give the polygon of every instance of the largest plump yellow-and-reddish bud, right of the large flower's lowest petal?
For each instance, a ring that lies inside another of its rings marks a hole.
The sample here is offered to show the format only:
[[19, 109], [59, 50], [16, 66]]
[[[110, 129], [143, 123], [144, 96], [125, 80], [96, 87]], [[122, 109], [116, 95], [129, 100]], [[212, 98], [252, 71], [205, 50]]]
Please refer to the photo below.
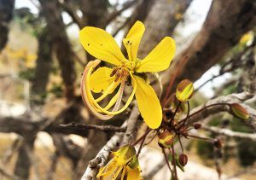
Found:
[[179, 102], [187, 102], [193, 95], [194, 86], [189, 79], [184, 79], [177, 84], [176, 97]]

